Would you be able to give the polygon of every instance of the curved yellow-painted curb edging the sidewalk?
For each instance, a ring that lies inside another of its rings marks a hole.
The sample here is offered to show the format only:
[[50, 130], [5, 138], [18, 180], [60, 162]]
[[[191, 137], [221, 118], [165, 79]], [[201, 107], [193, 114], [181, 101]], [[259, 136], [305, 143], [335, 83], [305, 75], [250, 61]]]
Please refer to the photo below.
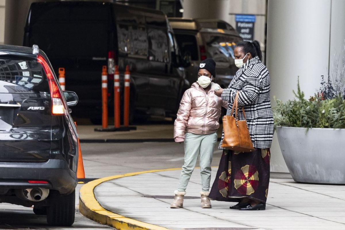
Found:
[[106, 210], [96, 200], [95, 194], [93, 193], [93, 189], [95, 189], [95, 187], [100, 183], [108, 180], [114, 180], [122, 177], [130, 177], [143, 173], [162, 172], [171, 170], [180, 170], [180, 168], [132, 172], [123, 175], [110, 176], [90, 181], [80, 188], [79, 212], [91, 220], [94, 220], [101, 224], [107, 224], [119, 230], [170, 230], [164, 227], [130, 219], [128, 217], [124, 217], [120, 214]]

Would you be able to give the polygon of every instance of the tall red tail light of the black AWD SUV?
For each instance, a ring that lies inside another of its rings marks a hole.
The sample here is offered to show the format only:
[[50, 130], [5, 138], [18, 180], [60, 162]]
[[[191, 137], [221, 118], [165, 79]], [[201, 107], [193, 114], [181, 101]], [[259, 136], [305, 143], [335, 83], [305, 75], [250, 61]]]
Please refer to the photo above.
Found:
[[63, 99], [61, 91], [58, 87], [57, 82], [54, 79], [54, 74], [51, 71], [47, 61], [40, 54], [37, 55], [37, 61], [42, 65], [43, 70], [45, 71], [49, 83], [50, 97], [52, 104], [52, 114], [60, 115], [66, 113], [65, 105], [63, 104]]

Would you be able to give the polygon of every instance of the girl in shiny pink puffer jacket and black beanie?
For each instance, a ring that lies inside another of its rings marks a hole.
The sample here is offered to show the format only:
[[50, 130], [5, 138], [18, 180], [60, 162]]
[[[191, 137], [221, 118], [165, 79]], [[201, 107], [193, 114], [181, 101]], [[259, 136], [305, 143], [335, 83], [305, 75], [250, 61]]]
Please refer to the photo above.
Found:
[[187, 184], [199, 153], [201, 207], [211, 208], [208, 194], [212, 155], [217, 143], [221, 107], [227, 108], [228, 105], [214, 93], [214, 90], [220, 88], [218, 84], [211, 82], [215, 77], [216, 63], [208, 58], [199, 65], [197, 82], [186, 90], [181, 99], [174, 124], [174, 138], [176, 142], [184, 142], [185, 163], [182, 166], [178, 190], [175, 191], [175, 199], [170, 208], [183, 207]]

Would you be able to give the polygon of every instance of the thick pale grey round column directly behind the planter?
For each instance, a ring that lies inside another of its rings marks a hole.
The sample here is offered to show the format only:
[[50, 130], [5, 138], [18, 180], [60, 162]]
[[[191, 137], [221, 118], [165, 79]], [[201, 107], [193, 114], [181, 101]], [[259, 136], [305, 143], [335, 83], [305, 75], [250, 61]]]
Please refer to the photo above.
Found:
[[[306, 98], [319, 89], [329, 57], [342, 51], [344, 11], [342, 0], [268, 0], [266, 60], [272, 99], [293, 99], [298, 76]], [[276, 137], [271, 152], [271, 170], [287, 172]]]

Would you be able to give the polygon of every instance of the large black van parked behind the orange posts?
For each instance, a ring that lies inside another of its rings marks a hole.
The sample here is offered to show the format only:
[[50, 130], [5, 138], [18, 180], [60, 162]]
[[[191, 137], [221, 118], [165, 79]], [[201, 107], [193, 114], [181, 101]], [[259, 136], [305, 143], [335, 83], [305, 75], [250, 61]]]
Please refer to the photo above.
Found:
[[190, 84], [164, 13], [124, 4], [90, 1], [32, 3], [24, 46], [47, 53], [55, 71], [66, 70], [66, 90], [79, 96], [73, 116], [101, 118], [101, 70], [108, 66], [109, 114], [113, 109], [114, 64], [131, 72], [130, 104], [145, 114], [176, 116]]

